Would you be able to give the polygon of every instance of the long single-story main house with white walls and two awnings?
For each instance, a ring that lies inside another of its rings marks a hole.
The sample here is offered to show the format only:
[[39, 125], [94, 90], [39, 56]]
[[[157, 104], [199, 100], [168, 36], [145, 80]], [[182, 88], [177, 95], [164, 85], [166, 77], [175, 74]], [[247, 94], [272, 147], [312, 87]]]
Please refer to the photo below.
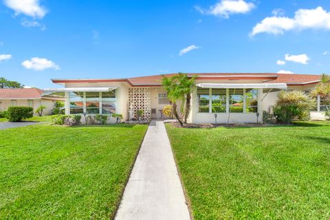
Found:
[[[165, 76], [173, 76], [166, 74]], [[194, 74], [188, 74], [192, 76]], [[272, 111], [277, 94], [282, 89], [309, 92], [320, 81], [320, 76], [303, 74], [196, 74], [192, 91], [192, 123], [259, 122], [263, 111]], [[135, 117], [135, 111], [144, 111], [142, 120], [162, 117], [162, 109], [169, 104], [161, 85], [163, 75], [111, 79], [52, 79], [63, 85], [48, 92], [65, 93], [65, 113], [111, 114], [121, 113], [124, 120]], [[316, 113], [325, 110], [318, 99]]]

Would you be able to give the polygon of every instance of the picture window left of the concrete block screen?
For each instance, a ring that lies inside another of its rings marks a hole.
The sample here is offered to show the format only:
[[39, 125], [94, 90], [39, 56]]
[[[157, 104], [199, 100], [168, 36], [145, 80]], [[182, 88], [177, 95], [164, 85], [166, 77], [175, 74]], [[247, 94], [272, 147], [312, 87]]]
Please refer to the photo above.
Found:
[[115, 91], [70, 92], [70, 114], [115, 113]]

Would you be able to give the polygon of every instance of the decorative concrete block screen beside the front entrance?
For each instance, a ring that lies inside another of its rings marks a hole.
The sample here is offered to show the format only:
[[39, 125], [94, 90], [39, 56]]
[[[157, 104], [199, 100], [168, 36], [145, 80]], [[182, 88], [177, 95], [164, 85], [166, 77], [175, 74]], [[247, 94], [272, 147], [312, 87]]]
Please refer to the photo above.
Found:
[[141, 120], [150, 120], [150, 102], [150, 88], [129, 88], [129, 120], [137, 119], [137, 110], [143, 110]]

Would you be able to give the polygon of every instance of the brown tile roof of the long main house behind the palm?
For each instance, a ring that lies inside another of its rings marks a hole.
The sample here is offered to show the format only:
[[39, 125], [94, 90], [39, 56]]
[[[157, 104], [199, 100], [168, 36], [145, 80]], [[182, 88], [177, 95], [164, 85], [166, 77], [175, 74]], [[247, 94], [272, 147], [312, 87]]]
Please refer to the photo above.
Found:
[[[173, 76], [175, 74], [164, 74], [155, 76], [142, 76], [128, 78], [132, 85], [160, 85], [160, 80], [163, 76]], [[188, 74], [188, 76], [195, 75], [193, 73]], [[319, 75], [305, 75], [305, 74], [272, 74], [272, 73], [198, 73], [196, 74], [198, 78], [210, 78], [213, 79], [217, 77], [239, 77], [239, 78], [255, 78], [261, 77], [265, 80], [269, 80], [267, 83], [287, 83], [287, 84], [305, 84], [320, 80]]]

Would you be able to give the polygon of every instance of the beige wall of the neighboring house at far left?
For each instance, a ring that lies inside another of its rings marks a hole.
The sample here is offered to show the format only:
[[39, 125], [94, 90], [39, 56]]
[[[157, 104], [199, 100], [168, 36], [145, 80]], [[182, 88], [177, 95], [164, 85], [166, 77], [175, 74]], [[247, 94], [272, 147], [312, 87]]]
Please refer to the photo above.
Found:
[[[15, 99], [13, 99], [15, 100]], [[8, 107], [12, 106], [11, 100], [0, 100], [0, 111], [5, 111]], [[54, 107], [54, 100], [44, 100], [44, 99], [34, 99], [33, 100], [33, 111], [35, 111], [39, 106], [44, 105], [46, 109], [43, 110], [43, 115], [50, 115]], [[16, 106], [26, 106], [28, 107], [28, 99], [17, 100]], [[34, 113], [37, 115], [37, 113]]]

